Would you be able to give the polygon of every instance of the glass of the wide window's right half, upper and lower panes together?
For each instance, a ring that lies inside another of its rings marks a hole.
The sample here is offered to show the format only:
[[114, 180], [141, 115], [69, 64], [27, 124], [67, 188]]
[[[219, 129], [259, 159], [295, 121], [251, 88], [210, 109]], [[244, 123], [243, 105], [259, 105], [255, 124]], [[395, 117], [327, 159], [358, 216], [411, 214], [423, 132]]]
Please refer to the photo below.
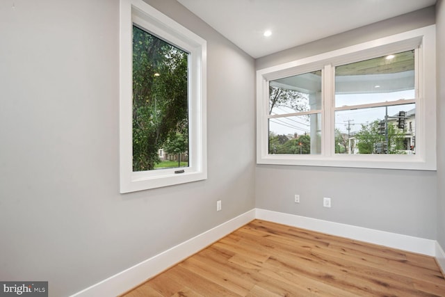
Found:
[[414, 49], [335, 67], [335, 152], [415, 154]]

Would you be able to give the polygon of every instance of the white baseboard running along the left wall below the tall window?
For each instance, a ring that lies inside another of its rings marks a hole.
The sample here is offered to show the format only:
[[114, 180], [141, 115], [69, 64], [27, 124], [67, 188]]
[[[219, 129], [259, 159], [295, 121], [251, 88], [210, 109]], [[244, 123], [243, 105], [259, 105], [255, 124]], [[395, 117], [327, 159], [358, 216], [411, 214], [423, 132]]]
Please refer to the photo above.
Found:
[[93, 284], [91, 287], [72, 295], [72, 297], [118, 296], [123, 294], [148, 278], [206, 248], [211, 243], [254, 220], [254, 218], [255, 209], [252, 209], [169, 250], [165, 250], [159, 255], [102, 280], [102, 282]]

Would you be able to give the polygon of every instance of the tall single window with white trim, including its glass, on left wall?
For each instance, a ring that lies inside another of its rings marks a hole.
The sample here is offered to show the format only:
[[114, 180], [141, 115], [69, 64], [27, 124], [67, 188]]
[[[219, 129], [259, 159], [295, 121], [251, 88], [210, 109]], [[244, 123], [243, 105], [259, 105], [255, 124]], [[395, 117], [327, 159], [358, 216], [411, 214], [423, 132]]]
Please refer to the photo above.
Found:
[[206, 50], [144, 1], [120, 1], [121, 193], [207, 178]]

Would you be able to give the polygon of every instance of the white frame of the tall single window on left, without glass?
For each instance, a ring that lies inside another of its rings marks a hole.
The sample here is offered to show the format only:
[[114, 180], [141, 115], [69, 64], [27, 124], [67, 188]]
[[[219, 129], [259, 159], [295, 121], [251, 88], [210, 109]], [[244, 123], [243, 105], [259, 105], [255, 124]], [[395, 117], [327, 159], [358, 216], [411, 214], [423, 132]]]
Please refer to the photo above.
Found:
[[[133, 24], [189, 53], [188, 167], [133, 172]], [[207, 179], [206, 77], [206, 40], [142, 0], [120, 1], [120, 193]]]

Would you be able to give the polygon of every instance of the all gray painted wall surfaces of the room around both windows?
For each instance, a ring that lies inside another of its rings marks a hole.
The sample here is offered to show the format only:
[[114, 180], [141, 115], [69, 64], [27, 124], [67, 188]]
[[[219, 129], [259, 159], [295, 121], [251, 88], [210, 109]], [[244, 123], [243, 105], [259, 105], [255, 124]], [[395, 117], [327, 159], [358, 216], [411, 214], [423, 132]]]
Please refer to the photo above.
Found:
[[[119, 194], [118, 0], [1, 1], [0, 280], [49, 280], [50, 296], [73, 294], [252, 209], [255, 195], [264, 209], [430, 239], [438, 226], [445, 246], [435, 172], [255, 167], [253, 59], [177, 1], [147, 2], [207, 39], [209, 178]], [[427, 8], [261, 58], [257, 69], [432, 23]]]

